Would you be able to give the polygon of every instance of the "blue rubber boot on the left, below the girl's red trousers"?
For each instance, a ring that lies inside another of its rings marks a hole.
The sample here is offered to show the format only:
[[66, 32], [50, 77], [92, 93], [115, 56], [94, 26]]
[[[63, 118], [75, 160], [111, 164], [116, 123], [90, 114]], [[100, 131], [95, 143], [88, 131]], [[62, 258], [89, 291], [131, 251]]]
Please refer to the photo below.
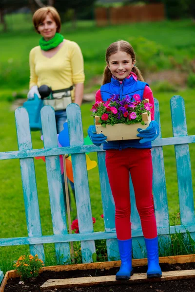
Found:
[[116, 274], [116, 280], [129, 280], [134, 274], [132, 269], [132, 238], [127, 240], [118, 239], [118, 249], [121, 266]]

